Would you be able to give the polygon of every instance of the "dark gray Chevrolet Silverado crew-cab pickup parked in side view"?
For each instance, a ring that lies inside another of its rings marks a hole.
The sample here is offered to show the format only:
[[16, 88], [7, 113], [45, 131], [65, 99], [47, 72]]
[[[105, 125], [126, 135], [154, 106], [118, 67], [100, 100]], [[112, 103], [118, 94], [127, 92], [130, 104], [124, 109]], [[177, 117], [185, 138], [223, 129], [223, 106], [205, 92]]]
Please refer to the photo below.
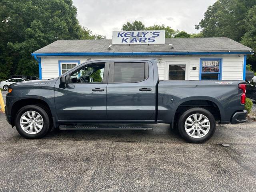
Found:
[[242, 80], [160, 81], [156, 60], [90, 60], [52, 80], [12, 84], [6, 119], [25, 138], [67, 129], [150, 130], [170, 124], [189, 142], [246, 121]]

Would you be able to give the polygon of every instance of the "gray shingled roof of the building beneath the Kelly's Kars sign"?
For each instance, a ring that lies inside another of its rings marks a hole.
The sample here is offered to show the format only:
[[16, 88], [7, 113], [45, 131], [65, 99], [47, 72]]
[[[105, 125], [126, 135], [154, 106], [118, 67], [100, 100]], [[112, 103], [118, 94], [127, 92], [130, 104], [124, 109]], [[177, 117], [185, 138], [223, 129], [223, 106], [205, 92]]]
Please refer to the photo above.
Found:
[[[57, 40], [34, 53], [75, 53], [75, 52], [244, 52], [252, 51], [230, 38], [173, 38], [165, 44], [112, 45], [112, 40]], [[173, 45], [170, 48], [169, 44]]]

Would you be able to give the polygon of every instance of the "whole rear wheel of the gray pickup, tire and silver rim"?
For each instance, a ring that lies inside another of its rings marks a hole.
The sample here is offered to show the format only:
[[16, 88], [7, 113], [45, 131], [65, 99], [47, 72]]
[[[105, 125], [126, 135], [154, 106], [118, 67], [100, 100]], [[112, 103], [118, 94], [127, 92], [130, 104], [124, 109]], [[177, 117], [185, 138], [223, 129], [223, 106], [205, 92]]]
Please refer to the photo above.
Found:
[[214, 116], [204, 108], [190, 108], [179, 118], [178, 131], [188, 142], [202, 143], [209, 140], [216, 129]]

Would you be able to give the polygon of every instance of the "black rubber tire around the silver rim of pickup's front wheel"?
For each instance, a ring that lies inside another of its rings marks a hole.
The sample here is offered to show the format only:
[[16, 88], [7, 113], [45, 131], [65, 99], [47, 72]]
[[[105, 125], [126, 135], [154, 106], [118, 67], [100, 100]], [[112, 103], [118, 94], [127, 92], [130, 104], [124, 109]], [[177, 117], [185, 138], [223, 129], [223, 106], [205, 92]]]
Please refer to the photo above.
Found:
[[[40, 132], [38, 132], [36, 134], [28, 134], [28, 133], [24, 132], [24, 130], [22, 130], [22, 128], [20, 126], [20, 118], [21, 118], [22, 114], [24, 114], [26, 111], [30, 111], [30, 110], [38, 112], [42, 116], [42, 119], [44, 120], [42, 130], [40, 130]], [[16, 118], [15, 118], [15, 126], [16, 126], [17, 131], [19, 132], [19, 134], [21, 136], [23, 136], [24, 138], [27, 138], [27, 139], [39, 139], [39, 138], [44, 137], [49, 132], [50, 124], [51, 124], [51, 122], [49, 119], [49, 112], [43, 106], [37, 106], [37, 105], [24, 106], [18, 111], [18, 113], [16, 114]]]

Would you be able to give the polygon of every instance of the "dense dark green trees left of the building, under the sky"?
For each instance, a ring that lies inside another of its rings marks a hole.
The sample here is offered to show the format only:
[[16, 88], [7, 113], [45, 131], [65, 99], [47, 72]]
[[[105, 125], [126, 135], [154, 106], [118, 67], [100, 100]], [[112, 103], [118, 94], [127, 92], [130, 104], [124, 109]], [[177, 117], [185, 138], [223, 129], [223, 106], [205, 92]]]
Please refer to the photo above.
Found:
[[31, 53], [59, 39], [101, 39], [76, 18], [72, 0], [0, 1], [0, 80], [38, 76]]

